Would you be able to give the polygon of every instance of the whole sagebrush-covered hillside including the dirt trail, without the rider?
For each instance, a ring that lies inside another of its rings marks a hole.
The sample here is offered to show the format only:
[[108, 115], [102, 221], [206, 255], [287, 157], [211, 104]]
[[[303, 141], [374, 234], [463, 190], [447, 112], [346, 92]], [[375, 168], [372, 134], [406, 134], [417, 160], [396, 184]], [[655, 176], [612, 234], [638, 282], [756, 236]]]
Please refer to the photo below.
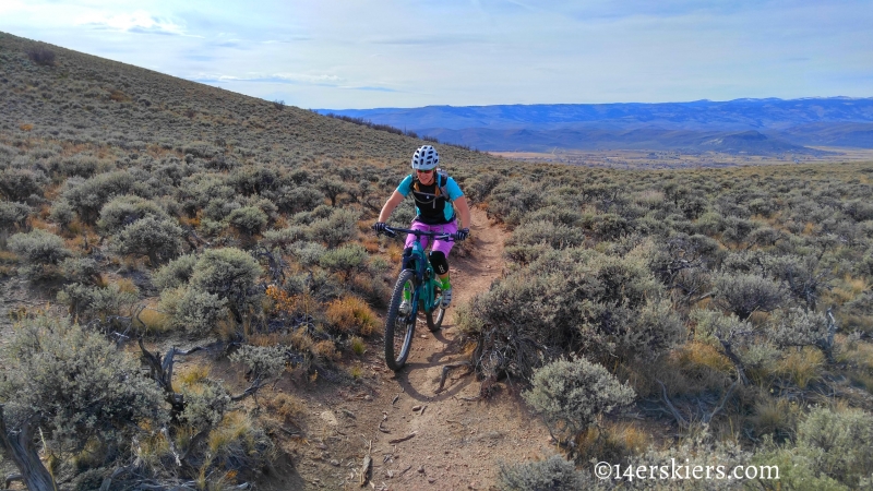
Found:
[[456, 298], [385, 339], [403, 242], [371, 225], [424, 140], [10, 35], [0, 105], [13, 489], [870, 486], [873, 163], [438, 144], [474, 205]]

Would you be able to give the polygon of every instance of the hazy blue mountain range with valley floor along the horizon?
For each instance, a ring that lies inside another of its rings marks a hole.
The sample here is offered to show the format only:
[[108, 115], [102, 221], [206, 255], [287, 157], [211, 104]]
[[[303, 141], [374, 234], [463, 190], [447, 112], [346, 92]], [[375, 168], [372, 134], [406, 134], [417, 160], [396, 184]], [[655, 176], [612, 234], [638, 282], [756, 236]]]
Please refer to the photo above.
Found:
[[318, 109], [485, 151], [683, 149], [818, 154], [873, 148], [873, 98]]

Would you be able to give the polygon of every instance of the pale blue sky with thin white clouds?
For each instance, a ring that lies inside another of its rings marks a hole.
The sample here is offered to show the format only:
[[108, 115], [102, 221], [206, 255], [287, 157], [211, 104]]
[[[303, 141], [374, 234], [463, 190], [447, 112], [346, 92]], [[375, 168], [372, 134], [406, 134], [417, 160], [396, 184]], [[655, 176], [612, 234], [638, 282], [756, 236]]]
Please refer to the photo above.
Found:
[[873, 0], [0, 0], [0, 31], [319, 109], [873, 97]]

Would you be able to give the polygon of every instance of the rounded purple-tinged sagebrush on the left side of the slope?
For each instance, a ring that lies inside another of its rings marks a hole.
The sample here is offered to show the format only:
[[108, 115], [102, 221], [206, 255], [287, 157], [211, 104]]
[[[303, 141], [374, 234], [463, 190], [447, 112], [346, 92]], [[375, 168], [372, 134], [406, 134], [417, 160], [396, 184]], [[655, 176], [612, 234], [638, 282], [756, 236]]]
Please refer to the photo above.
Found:
[[119, 254], [147, 255], [152, 267], [157, 267], [182, 251], [182, 233], [174, 220], [147, 216], [124, 227], [112, 239], [112, 249]]

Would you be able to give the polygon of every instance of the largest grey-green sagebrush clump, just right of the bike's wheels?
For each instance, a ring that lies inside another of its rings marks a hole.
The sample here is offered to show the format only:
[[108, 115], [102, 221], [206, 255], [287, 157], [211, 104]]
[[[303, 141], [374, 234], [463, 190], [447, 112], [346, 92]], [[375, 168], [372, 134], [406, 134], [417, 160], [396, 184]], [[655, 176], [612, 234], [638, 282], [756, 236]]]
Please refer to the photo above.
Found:
[[[683, 334], [646, 267], [650, 248], [624, 258], [585, 249], [549, 251], [474, 298], [463, 328], [477, 340], [477, 367], [527, 378], [539, 356], [585, 352], [651, 358]], [[493, 356], [491, 354], [494, 354]]]

